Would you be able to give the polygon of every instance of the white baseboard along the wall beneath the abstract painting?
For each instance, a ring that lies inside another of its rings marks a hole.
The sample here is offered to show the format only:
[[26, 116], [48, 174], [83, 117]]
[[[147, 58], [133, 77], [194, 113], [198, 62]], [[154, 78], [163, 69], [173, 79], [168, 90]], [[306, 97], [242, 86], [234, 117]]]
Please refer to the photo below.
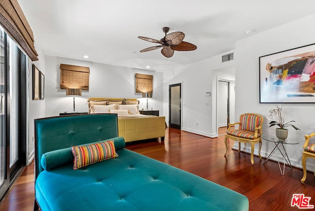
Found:
[[[238, 142], [235, 142], [232, 149], [235, 149], [235, 150], [238, 150]], [[251, 147], [247, 147], [247, 146], [244, 146], [244, 144], [241, 144], [241, 151], [242, 152], [247, 152], [249, 154], [251, 154]], [[260, 151], [260, 155], [261, 157], [263, 158], [267, 158], [269, 156], [269, 153], [270, 152], [265, 152], [265, 151]], [[301, 152], [302, 153], [302, 152]], [[258, 150], [257, 149], [254, 149], [254, 155], [256, 156], [259, 156], [258, 155]], [[276, 161], [277, 162], [277, 156], [275, 154], [273, 154], [269, 160], [273, 160], [273, 161]], [[284, 158], [280, 158], [280, 162], [283, 164], [284, 162]], [[303, 169], [302, 167], [302, 161], [301, 160], [293, 160], [290, 158], [290, 162], [291, 162], [291, 165], [296, 167], [296, 168], [299, 168], [299, 169]], [[314, 164], [307, 164], [306, 165], [307, 167], [307, 170], [308, 171], [311, 171], [311, 172], [315, 172], [315, 165]]]

